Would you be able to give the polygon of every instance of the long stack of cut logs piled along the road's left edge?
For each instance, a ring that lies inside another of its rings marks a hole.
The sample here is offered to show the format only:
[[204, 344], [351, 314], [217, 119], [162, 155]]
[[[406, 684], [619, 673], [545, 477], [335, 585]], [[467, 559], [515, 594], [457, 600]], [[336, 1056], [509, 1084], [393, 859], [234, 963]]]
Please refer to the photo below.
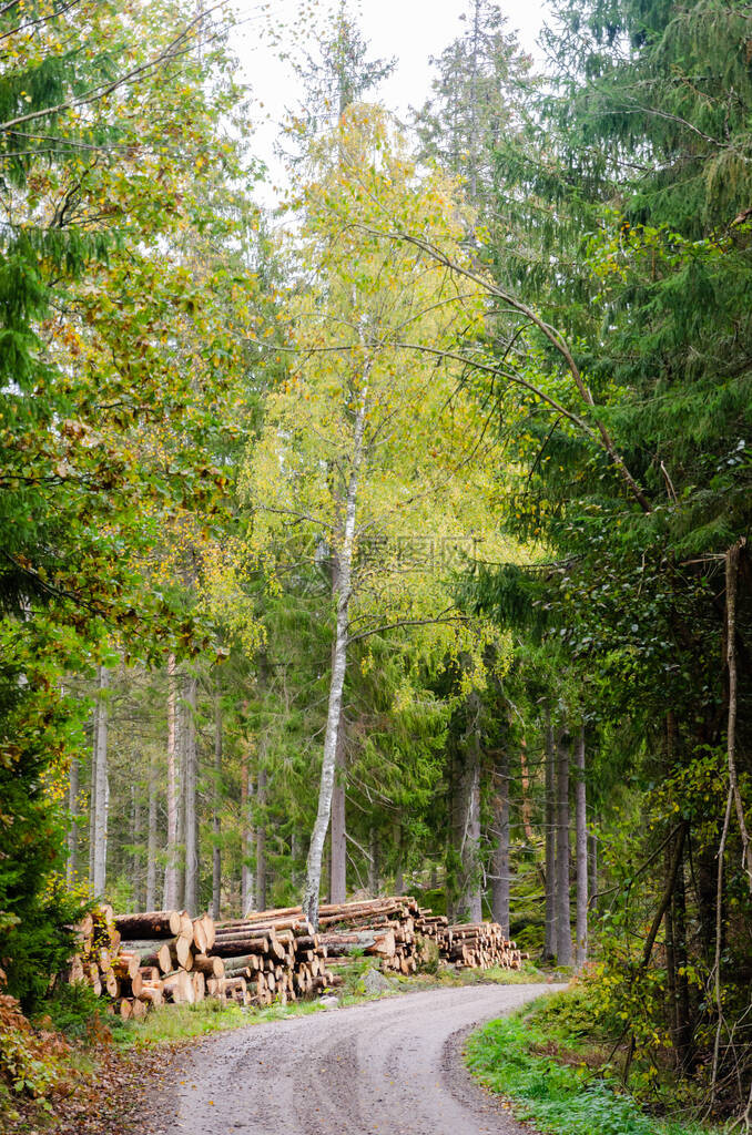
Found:
[[527, 955], [496, 923], [450, 926], [446, 917], [394, 896], [324, 903], [319, 930], [300, 907], [258, 910], [216, 923], [203, 915], [151, 910], [112, 915], [102, 906], [76, 927], [78, 949], [66, 977], [107, 997], [111, 1012], [141, 1019], [149, 1008], [215, 997], [264, 1007], [341, 985], [337, 958], [365, 955], [385, 972], [413, 974], [431, 957], [457, 968], [519, 969]]

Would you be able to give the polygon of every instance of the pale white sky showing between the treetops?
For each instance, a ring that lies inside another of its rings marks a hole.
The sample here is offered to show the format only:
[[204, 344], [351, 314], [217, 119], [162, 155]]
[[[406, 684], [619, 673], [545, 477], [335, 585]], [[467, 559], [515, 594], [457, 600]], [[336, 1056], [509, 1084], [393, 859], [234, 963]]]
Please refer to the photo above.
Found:
[[[499, 3], [509, 30], [517, 31], [520, 45], [533, 54], [537, 54], [535, 40], [543, 24], [544, 5], [545, 0], [500, 0]], [[303, 0], [271, 0], [269, 7], [273, 22], [290, 26], [291, 53], [294, 54], [295, 31], [302, 26]], [[465, 25], [459, 16], [469, 8], [469, 0], [359, 0], [357, 3], [353, 0], [352, 7], [359, 11], [360, 27], [370, 42], [370, 58], [396, 56], [399, 60], [394, 74], [378, 87], [377, 96], [400, 117], [410, 106], [423, 106], [433, 77], [429, 58], [440, 56], [462, 33]], [[286, 108], [295, 107], [302, 91], [291, 64], [279, 61], [279, 48], [259, 36], [259, 22], [251, 15], [258, 11], [258, 0], [240, 0], [239, 8], [241, 19], [243, 9], [251, 18], [248, 24], [241, 24], [233, 47], [241, 59], [243, 78], [251, 85], [257, 103], [264, 104], [259, 110], [257, 154], [269, 165], [273, 179], [279, 180], [279, 166], [273, 155], [276, 124]], [[323, 18], [326, 7], [321, 5], [316, 10]], [[267, 192], [262, 194], [265, 197]]]

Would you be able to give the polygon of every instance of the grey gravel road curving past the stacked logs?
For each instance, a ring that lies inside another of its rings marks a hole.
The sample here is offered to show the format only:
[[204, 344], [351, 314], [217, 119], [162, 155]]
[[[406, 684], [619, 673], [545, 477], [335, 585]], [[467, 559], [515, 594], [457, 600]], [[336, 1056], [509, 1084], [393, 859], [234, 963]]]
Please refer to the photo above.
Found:
[[466, 1071], [470, 1028], [555, 989], [433, 990], [222, 1033], [192, 1050], [167, 1135], [529, 1135]]

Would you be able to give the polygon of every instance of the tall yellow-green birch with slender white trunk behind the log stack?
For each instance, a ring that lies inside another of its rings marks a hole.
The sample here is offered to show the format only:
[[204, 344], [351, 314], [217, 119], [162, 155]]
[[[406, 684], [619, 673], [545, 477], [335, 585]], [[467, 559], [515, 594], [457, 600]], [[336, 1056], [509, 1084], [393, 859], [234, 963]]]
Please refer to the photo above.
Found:
[[[444, 546], [487, 529], [493, 443], [450, 361], [402, 346], [413, 331], [446, 348], [481, 328], [483, 302], [433, 258], [369, 226], [384, 210], [450, 243], [461, 210], [438, 175], [418, 178], [379, 111], [356, 106], [312, 149], [298, 204], [300, 286], [290, 300], [287, 380], [244, 478], [253, 549], [284, 549], [329, 573], [333, 648], [318, 809], [303, 908], [317, 920], [348, 649], [377, 629], [417, 625], [433, 649], [477, 653], [456, 609]], [[479, 667], [482, 669], [482, 667]]]

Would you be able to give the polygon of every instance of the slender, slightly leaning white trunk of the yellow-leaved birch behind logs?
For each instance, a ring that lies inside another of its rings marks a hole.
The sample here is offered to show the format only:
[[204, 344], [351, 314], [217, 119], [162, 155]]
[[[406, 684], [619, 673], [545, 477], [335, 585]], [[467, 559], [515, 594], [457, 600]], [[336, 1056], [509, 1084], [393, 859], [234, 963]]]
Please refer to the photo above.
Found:
[[352, 597], [352, 556], [356, 537], [356, 513], [360, 489], [360, 466], [362, 463], [364, 434], [366, 429], [366, 410], [368, 406], [368, 373], [364, 375], [353, 430], [352, 468], [348, 481], [345, 497], [344, 532], [342, 547], [337, 554], [337, 594], [336, 594], [336, 630], [334, 637], [334, 654], [332, 678], [329, 681], [329, 700], [326, 715], [326, 733], [324, 735], [324, 759], [321, 760], [321, 779], [318, 790], [318, 809], [316, 823], [311, 833], [306, 868], [306, 890], [303, 893], [303, 911], [315, 927], [318, 927], [318, 906], [321, 888], [321, 857], [324, 841], [329, 826], [332, 812], [332, 792], [334, 791], [334, 766], [336, 760], [337, 733], [342, 715], [342, 691], [348, 664], [348, 623], [350, 621], [350, 599]]

